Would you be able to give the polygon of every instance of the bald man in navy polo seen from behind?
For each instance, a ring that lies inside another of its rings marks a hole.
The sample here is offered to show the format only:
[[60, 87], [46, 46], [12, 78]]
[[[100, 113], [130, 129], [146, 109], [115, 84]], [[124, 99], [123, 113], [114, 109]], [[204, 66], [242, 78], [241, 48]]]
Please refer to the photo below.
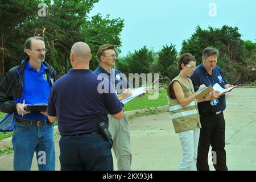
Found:
[[51, 89], [49, 121], [58, 121], [61, 170], [113, 170], [112, 140], [99, 133], [98, 122], [108, 125], [108, 114], [123, 117], [123, 107], [115, 93], [102, 92], [109, 81], [89, 69], [92, 59], [88, 44], [71, 48], [72, 68]]

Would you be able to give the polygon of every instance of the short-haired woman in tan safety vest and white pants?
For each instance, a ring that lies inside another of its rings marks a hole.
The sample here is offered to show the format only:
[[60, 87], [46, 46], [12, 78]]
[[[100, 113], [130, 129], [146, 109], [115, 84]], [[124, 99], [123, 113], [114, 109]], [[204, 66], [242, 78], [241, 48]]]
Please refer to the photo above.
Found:
[[[205, 85], [194, 92], [190, 77], [196, 68], [196, 59], [191, 53], [183, 53], [178, 59], [180, 73], [167, 88], [170, 113], [174, 129], [179, 133], [183, 156], [179, 170], [196, 170], [197, 146], [201, 123], [196, 96]], [[205, 97], [209, 97], [207, 94]]]

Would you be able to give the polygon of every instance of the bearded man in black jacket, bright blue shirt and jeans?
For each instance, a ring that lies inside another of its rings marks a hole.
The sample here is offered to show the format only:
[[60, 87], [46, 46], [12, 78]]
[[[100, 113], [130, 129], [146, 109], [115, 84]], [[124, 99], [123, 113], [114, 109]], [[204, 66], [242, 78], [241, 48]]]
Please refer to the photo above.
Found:
[[44, 61], [44, 39], [27, 39], [28, 57], [10, 69], [0, 84], [0, 110], [15, 114], [13, 134], [14, 170], [30, 170], [34, 152], [39, 170], [55, 170], [53, 125], [47, 112], [27, 112], [28, 104], [46, 104], [53, 85], [53, 69]]

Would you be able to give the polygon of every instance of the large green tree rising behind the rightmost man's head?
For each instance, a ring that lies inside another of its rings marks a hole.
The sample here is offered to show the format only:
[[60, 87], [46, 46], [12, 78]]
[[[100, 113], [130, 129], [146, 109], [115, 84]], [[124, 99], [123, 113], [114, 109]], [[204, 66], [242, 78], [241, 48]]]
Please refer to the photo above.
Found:
[[246, 80], [242, 74], [246, 66], [246, 61], [243, 59], [243, 53], [245, 53], [243, 44], [237, 27], [225, 25], [221, 28], [209, 27], [208, 30], [202, 30], [197, 26], [191, 38], [183, 41], [181, 53], [192, 53], [199, 64], [204, 48], [217, 48], [220, 52], [217, 64], [221, 66], [228, 80], [237, 84]]

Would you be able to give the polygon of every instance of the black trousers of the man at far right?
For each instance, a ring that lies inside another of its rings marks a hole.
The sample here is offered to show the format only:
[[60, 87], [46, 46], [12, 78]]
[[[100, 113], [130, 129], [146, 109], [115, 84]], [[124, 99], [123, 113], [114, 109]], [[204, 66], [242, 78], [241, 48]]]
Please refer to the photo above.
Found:
[[200, 138], [197, 150], [197, 170], [209, 171], [208, 152], [212, 146], [213, 166], [216, 171], [226, 171], [225, 119], [223, 113], [200, 112]]

